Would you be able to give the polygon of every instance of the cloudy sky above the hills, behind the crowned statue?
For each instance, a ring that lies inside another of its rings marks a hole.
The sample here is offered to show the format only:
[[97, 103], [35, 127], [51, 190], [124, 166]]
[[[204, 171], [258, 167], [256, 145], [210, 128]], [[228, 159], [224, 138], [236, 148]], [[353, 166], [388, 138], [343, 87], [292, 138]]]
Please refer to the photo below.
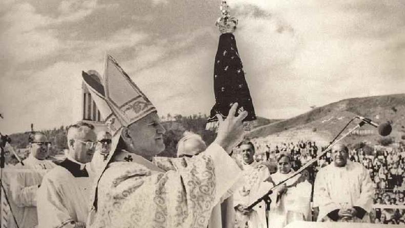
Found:
[[[403, 93], [403, 0], [229, 0], [256, 114], [279, 119], [353, 97]], [[0, 2], [0, 132], [82, 117], [81, 72], [120, 63], [158, 109], [214, 105], [220, 0]]]

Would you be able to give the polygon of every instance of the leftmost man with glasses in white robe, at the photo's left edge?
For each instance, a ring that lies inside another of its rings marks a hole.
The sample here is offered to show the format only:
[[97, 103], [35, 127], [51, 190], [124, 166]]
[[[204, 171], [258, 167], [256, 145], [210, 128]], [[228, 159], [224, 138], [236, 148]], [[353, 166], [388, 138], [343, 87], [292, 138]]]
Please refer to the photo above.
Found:
[[[39, 185], [47, 169], [56, 166], [48, 157], [47, 137], [42, 132], [32, 132], [28, 138], [30, 154], [22, 163], [14, 166], [8, 174], [10, 179], [10, 206], [18, 227], [33, 227], [38, 224], [36, 196]], [[19, 169], [19, 170], [16, 170]], [[12, 217], [8, 218], [8, 226], [17, 227]]]

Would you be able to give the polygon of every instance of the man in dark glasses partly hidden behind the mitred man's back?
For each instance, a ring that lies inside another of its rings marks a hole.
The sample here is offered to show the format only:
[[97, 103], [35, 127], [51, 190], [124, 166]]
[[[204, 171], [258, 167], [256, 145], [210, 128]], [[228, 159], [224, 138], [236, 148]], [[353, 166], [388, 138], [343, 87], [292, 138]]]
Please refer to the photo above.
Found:
[[98, 174], [105, 166], [111, 150], [111, 139], [112, 136], [110, 132], [104, 130], [98, 132], [96, 150], [90, 163], [92, 172]]

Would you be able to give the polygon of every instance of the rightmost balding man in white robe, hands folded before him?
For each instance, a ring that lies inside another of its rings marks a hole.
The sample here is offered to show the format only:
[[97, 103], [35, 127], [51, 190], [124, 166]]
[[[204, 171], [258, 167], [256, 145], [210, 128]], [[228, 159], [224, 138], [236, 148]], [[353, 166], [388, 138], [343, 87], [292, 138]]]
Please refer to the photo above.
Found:
[[343, 144], [332, 147], [333, 163], [316, 175], [314, 207], [318, 221], [369, 222], [374, 189], [368, 170], [348, 160], [349, 149]]

